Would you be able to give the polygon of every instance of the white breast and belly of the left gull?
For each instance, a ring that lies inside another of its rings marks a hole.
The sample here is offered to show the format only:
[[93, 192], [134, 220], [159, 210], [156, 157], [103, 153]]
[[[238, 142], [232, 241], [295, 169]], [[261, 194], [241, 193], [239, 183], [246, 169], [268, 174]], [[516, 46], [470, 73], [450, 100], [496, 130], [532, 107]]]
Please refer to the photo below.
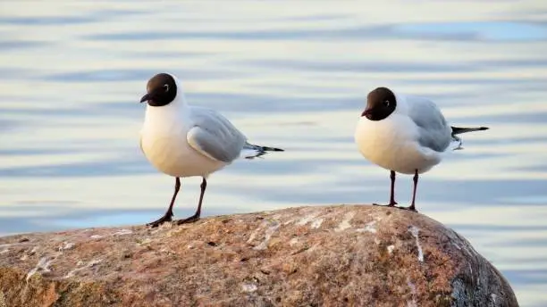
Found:
[[147, 106], [140, 136], [140, 146], [147, 160], [157, 170], [173, 177], [206, 177], [222, 169], [225, 163], [199, 154], [189, 146], [186, 138], [191, 126], [189, 117], [178, 110], [181, 106], [176, 108], [177, 105], [172, 104]]

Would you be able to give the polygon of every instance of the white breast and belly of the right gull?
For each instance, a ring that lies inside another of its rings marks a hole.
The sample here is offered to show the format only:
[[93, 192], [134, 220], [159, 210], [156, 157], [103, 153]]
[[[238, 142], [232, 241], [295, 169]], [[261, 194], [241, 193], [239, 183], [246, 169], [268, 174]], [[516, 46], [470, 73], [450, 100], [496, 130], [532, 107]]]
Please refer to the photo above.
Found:
[[386, 170], [422, 173], [441, 162], [439, 154], [417, 144], [417, 127], [404, 114], [393, 112], [384, 120], [361, 117], [355, 131], [359, 152]]

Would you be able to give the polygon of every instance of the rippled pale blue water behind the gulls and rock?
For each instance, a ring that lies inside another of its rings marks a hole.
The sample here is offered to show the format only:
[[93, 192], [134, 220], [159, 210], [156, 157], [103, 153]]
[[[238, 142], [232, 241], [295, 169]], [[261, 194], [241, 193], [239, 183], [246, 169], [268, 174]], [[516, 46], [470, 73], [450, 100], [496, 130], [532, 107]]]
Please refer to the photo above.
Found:
[[[141, 224], [173, 179], [139, 151], [146, 81], [171, 71], [283, 154], [209, 180], [205, 214], [387, 201], [358, 154], [368, 91], [432, 97], [466, 150], [422, 177], [418, 209], [499, 268], [522, 306], [547, 295], [547, 5], [539, 1], [0, 3], [0, 234]], [[185, 179], [177, 217], [191, 214]], [[407, 203], [411, 177], [400, 176]]]

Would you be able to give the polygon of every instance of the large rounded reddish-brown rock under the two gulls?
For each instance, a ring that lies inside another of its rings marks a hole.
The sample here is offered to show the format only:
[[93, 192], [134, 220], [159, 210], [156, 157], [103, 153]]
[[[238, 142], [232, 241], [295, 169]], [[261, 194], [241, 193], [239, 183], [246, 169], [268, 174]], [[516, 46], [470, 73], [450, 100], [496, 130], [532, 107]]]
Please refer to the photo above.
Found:
[[462, 236], [424, 215], [369, 205], [3, 237], [1, 303], [518, 306]]

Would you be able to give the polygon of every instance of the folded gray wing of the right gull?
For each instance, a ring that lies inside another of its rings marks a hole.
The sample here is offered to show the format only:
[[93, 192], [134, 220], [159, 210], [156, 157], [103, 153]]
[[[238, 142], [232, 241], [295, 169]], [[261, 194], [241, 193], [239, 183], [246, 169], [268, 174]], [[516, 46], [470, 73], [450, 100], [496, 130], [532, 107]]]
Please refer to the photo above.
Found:
[[442, 112], [433, 102], [415, 96], [407, 96], [408, 116], [419, 130], [418, 143], [436, 152], [443, 152], [451, 140], [450, 127]]

